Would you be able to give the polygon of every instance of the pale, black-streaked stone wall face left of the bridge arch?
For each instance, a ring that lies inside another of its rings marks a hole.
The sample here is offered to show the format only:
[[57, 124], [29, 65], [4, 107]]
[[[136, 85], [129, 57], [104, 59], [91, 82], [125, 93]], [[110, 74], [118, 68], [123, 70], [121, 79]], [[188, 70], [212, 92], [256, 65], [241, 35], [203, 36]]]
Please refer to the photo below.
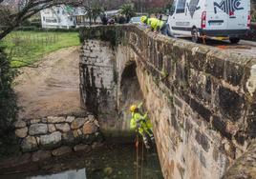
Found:
[[[104, 116], [102, 129], [117, 118], [116, 60], [110, 42], [85, 41], [80, 55], [80, 91], [86, 109]], [[104, 79], [104, 80], [103, 80]], [[100, 112], [98, 112], [100, 111]], [[106, 124], [108, 122], [108, 124]]]

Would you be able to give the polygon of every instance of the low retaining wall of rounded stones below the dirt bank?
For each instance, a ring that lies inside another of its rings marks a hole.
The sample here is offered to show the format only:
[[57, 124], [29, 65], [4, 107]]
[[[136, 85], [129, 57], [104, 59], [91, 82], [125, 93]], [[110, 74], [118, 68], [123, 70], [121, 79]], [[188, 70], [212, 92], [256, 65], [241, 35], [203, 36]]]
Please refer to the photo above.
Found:
[[90, 145], [102, 140], [98, 122], [93, 115], [18, 120], [14, 127], [23, 152], [59, 147], [78, 150], [83, 148], [83, 144]]

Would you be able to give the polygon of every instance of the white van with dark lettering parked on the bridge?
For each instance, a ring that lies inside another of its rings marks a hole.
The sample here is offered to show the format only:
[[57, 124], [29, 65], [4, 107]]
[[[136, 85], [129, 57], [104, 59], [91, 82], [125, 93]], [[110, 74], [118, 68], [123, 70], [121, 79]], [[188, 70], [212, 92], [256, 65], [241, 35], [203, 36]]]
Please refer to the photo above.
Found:
[[238, 43], [249, 30], [250, 0], [174, 0], [167, 21], [172, 34], [228, 37]]

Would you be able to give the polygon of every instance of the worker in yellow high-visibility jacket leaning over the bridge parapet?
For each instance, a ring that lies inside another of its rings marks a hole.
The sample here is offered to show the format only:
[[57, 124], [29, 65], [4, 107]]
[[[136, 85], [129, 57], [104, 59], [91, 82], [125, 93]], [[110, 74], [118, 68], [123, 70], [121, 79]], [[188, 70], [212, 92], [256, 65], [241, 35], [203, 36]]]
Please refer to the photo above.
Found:
[[148, 25], [151, 30], [157, 32], [160, 31], [163, 35], [167, 34], [167, 26], [164, 21], [161, 21], [157, 18], [148, 18], [147, 16], [143, 15], [140, 17], [141, 23]]

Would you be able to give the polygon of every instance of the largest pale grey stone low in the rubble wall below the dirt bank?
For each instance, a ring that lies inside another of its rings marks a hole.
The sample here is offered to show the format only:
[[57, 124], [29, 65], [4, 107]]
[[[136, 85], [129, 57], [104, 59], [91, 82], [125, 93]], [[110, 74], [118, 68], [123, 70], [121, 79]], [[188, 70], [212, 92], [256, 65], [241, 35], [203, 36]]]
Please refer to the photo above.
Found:
[[61, 133], [54, 131], [48, 135], [40, 136], [40, 142], [43, 149], [53, 149], [61, 144]]

